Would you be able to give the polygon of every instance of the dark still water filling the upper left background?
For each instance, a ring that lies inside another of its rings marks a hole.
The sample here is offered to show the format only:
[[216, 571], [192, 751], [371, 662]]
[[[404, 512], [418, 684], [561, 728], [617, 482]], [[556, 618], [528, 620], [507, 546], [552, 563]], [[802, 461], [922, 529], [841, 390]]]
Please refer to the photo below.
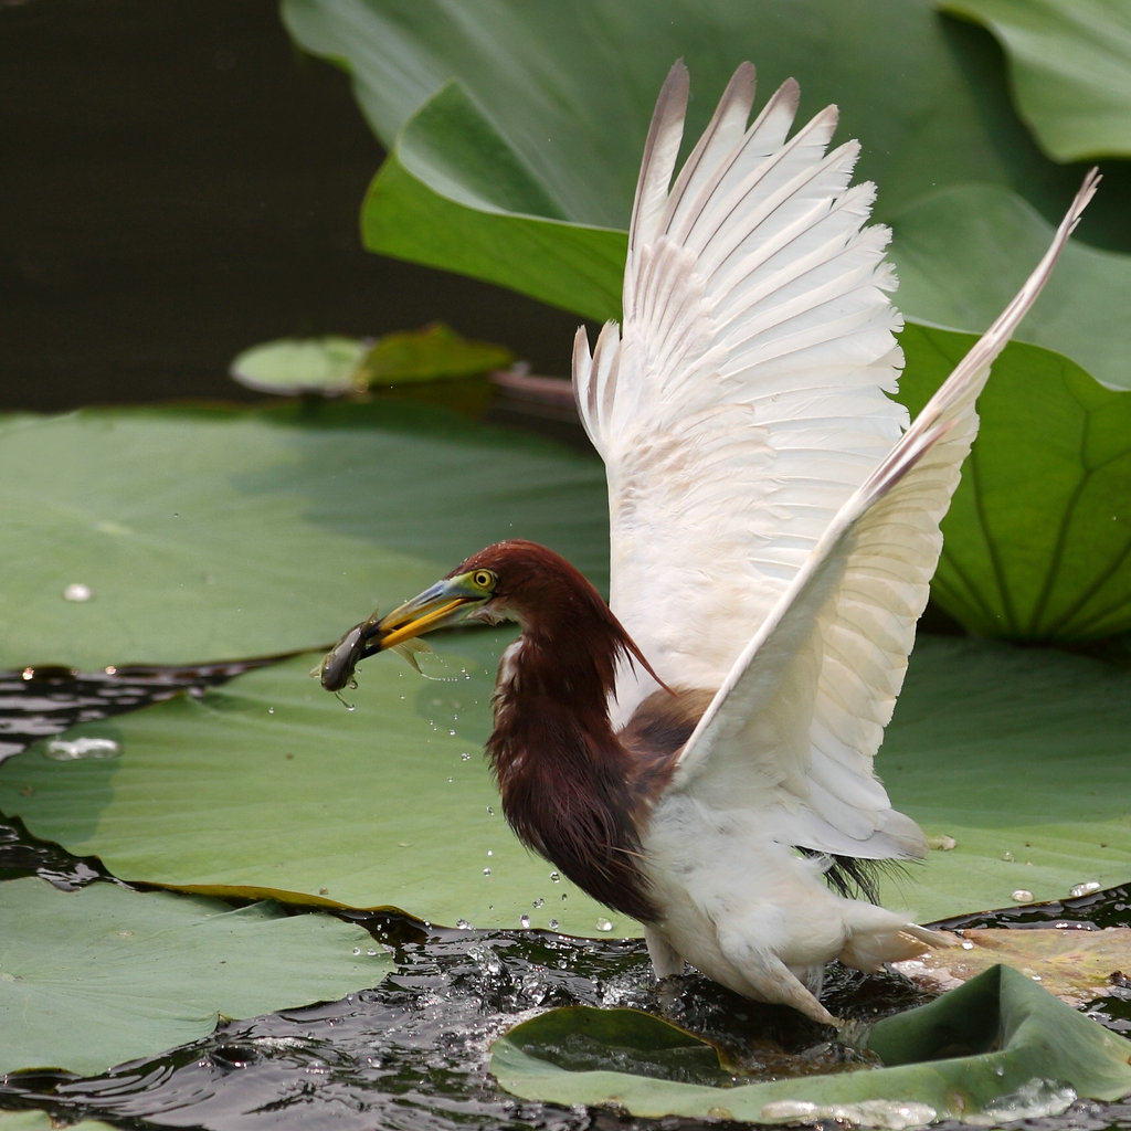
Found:
[[566, 374], [576, 316], [362, 250], [382, 152], [275, 0], [0, 0], [0, 411], [241, 398], [241, 349], [441, 319]]

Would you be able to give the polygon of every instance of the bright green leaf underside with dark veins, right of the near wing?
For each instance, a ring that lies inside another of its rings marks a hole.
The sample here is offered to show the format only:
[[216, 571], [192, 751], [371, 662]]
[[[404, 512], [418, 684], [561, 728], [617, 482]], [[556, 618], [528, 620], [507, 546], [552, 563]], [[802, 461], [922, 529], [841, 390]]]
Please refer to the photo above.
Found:
[[[974, 344], [908, 326], [917, 412]], [[1094, 640], [1131, 628], [1131, 392], [1019, 343], [978, 399], [981, 433], [942, 524], [932, 598], [969, 631]]]

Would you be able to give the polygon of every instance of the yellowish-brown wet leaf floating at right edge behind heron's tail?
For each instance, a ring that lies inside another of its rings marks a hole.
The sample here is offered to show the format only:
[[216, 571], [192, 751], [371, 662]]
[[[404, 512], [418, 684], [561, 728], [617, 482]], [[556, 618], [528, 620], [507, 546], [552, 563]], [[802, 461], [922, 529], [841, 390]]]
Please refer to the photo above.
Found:
[[[967, 927], [962, 947], [933, 950], [898, 962], [915, 982], [950, 990], [991, 966], [1005, 964], [1070, 1005], [1111, 993], [1131, 974], [1131, 927], [1103, 931]], [[1113, 975], [1115, 981], [1113, 982]]]

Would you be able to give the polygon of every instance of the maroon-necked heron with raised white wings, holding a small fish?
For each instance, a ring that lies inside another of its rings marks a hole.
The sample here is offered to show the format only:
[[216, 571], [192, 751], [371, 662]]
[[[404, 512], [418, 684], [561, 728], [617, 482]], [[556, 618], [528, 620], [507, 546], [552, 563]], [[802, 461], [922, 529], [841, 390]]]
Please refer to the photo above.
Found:
[[[516, 622], [486, 757], [518, 838], [685, 965], [823, 1025], [827, 965], [951, 943], [879, 905], [923, 857], [874, 770], [929, 596], [976, 398], [1095, 192], [1085, 180], [1017, 296], [912, 423], [875, 195], [837, 107], [791, 133], [784, 83], [751, 122], [742, 64], [675, 174], [676, 63], [645, 143], [621, 323], [572, 381], [604, 460], [610, 597], [518, 538], [472, 554], [322, 663], [468, 622]], [[896, 865], [898, 866], [898, 864]]]

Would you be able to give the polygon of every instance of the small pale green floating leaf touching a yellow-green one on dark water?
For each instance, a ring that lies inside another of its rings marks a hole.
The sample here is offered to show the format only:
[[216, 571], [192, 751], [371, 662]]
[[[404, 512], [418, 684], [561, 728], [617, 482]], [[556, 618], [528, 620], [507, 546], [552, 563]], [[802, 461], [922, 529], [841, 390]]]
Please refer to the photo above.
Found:
[[356, 385], [365, 343], [356, 338], [280, 338], [244, 349], [232, 362], [232, 377], [249, 389], [294, 396], [342, 396]]

